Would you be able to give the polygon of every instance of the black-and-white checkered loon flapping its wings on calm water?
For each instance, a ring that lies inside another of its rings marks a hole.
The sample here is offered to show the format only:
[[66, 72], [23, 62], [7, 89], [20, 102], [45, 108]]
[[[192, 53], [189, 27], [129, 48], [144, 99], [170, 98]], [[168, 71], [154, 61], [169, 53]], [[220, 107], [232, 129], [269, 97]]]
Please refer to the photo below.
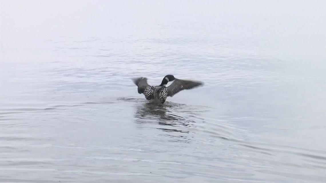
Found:
[[[166, 75], [158, 86], [150, 86], [146, 77], [133, 78], [133, 81], [138, 87], [139, 94], [143, 93], [147, 100], [158, 100], [161, 104], [164, 104], [167, 97], [173, 97], [179, 91], [203, 85], [203, 82], [177, 79], [173, 75]], [[172, 84], [166, 87], [170, 81], [173, 81]]]

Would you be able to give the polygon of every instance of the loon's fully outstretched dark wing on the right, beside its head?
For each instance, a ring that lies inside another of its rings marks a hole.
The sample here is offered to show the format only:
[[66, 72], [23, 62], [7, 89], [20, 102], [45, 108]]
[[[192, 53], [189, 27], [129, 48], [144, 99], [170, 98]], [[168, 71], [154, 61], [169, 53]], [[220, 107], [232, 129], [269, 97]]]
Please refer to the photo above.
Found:
[[174, 79], [172, 84], [167, 87], [168, 96], [172, 97], [176, 93], [182, 90], [189, 90], [195, 87], [199, 87], [203, 85], [203, 82], [200, 81], [192, 81], [192, 80], [183, 80], [183, 79]]

